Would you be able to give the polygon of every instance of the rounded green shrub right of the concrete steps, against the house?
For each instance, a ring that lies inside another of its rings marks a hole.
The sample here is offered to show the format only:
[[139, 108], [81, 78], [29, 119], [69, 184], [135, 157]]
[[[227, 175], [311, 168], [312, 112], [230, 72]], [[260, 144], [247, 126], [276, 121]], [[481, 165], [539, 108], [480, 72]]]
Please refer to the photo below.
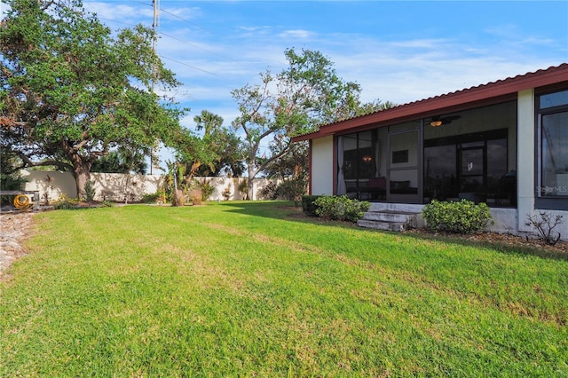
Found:
[[434, 232], [471, 233], [493, 224], [487, 204], [468, 200], [433, 200], [422, 209], [422, 217], [426, 228]]

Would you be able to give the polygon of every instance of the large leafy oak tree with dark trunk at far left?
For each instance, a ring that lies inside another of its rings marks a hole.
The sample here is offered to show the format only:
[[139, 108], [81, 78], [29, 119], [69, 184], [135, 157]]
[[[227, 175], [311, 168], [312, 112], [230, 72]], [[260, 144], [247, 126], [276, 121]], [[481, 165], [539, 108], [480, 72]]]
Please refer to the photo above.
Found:
[[145, 150], [182, 135], [178, 85], [138, 26], [113, 35], [80, 0], [8, 0], [0, 22], [2, 148], [25, 165], [58, 165], [84, 196], [91, 164], [117, 146]]

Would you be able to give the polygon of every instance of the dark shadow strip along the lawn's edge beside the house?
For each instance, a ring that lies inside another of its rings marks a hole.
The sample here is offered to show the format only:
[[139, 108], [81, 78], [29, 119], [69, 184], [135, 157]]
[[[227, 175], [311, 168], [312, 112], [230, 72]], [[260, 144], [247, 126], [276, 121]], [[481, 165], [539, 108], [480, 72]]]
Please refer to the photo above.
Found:
[[[324, 220], [318, 217], [308, 217], [302, 207], [296, 207], [293, 201], [255, 201], [255, 202], [224, 202], [221, 206], [232, 207], [227, 211], [246, 214], [253, 217], [269, 217], [290, 222], [321, 224], [338, 228], [356, 228], [356, 224]], [[361, 232], [383, 232], [385, 234], [398, 234], [414, 240], [437, 240], [448, 244], [464, 247], [491, 248], [504, 254], [538, 256], [552, 260], [568, 261], [568, 252], [548, 248], [535, 240], [529, 242], [522, 237], [513, 235], [498, 235], [491, 232], [482, 232], [474, 235], [430, 233], [426, 231], [388, 232], [360, 228]]]

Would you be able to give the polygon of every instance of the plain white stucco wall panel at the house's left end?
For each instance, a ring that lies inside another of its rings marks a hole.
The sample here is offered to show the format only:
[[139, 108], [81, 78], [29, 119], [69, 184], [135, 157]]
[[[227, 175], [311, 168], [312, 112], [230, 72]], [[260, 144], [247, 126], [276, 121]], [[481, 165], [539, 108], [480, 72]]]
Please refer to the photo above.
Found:
[[333, 194], [334, 186], [334, 138], [312, 141], [312, 194]]

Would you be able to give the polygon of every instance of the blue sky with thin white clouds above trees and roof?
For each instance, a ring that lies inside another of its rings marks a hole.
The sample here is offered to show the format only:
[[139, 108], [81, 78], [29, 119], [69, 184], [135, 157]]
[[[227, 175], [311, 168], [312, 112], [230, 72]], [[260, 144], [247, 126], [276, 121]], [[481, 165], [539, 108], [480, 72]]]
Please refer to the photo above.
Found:
[[[152, 26], [152, 0], [83, 0], [110, 28]], [[366, 101], [403, 104], [568, 62], [568, 1], [159, 0], [157, 51], [174, 93], [225, 125], [230, 91], [286, 66], [287, 48], [320, 51]], [[5, 4], [0, 4], [5, 10]]]

